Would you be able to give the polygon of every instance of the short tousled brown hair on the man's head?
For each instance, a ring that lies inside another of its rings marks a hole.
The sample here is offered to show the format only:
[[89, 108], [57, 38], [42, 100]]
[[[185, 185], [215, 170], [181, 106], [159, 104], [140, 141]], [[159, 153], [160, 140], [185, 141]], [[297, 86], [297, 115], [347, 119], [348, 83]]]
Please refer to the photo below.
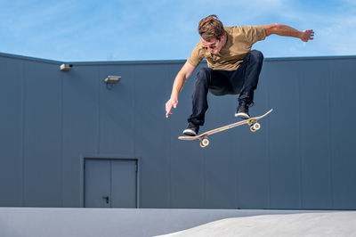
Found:
[[199, 21], [198, 32], [200, 37], [206, 41], [213, 38], [220, 40], [225, 33], [225, 29], [223, 29], [223, 22], [218, 20], [216, 15], [210, 15]]

